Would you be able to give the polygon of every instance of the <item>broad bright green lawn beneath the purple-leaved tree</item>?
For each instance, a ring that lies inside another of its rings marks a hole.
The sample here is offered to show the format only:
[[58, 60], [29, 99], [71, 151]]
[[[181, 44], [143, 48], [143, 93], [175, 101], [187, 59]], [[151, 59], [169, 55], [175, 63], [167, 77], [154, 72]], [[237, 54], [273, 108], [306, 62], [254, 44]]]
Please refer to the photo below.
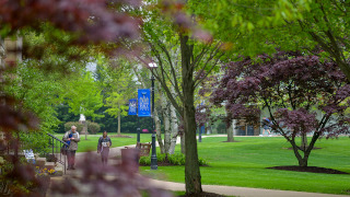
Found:
[[[332, 175], [267, 170], [269, 166], [298, 165], [290, 144], [281, 137], [235, 137], [238, 142], [222, 142], [226, 138], [203, 138], [198, 154], [210, 166], [201, 167], [206, 185], [231, 185], [283, 190], [350, 195], [350, 174]], [[336, 169], [350, 173], [350, 139], [322, 139], [316, 142], [308, 160], [310, 166]], [[176, 151], [179, 151], [177, 146]], [[142, 166], [149, 176], [184, 183], [184, 166], [159, 166], [158, 171]]]

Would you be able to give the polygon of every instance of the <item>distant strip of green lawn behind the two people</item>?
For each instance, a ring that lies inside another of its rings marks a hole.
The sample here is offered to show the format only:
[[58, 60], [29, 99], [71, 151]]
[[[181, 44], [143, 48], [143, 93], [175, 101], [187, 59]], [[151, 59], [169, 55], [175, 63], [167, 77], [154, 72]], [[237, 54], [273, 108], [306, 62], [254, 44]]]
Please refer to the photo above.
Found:
[[[109, 132], [108, 136], [115, 136], [117, 134]], [[136, 144], [137, 135], [136, 134], [121, 134], [122, 136], [130, 136], [132, 138], [110, 138], [112, 147], [122, 147], [129, 144]], [[62, 139], [63, 135], [55, 135], [57, 138]], [[101, 134], [102, 136], [102, 134]], [[100, 136], [100, 137], [101, 137]], [[141, 134], [140, 141], [141, 142], [150, 142], [151, 134]], [[80, 136], [80, 142], [78, 143], [78, 152], [88, 152], [88, 151], [96, 151], [97, 150], [97, 136], [88, 136], [88, 140], [85, 140], [85, 136]]]

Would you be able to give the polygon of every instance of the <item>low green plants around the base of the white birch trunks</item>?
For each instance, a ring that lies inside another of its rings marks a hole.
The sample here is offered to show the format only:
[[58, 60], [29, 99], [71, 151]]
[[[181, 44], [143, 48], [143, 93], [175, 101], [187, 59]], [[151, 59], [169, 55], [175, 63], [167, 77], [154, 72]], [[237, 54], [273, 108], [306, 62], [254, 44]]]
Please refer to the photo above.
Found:
[[[166, 154], [158, 154], [158, 162], [164, 162]], [[176, 154], [167, 154], [167, 161], [174, 165], [185, 165], [185, 154], [176, 153]], [[139, 160], [140, 165], [151, 165], [151, 157], [141, 157]], [[200, 166], [208, 165], [207, 161], [202, 158], [198, 159], [198, 163]]]

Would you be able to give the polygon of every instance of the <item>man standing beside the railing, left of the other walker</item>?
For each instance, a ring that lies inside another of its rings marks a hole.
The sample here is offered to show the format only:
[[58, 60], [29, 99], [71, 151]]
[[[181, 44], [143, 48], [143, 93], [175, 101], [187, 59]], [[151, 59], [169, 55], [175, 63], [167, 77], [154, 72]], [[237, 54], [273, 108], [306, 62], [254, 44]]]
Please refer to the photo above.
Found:
[[68, 169], [75, 170], [75, 152], [78, 150], [78, 142], [80, 141], [79, 134], [77, 132], [77, 127], [72, 126], [69, 131], [67, 131], [62, 138], [63, 141], [69, 143], [67, 150]]

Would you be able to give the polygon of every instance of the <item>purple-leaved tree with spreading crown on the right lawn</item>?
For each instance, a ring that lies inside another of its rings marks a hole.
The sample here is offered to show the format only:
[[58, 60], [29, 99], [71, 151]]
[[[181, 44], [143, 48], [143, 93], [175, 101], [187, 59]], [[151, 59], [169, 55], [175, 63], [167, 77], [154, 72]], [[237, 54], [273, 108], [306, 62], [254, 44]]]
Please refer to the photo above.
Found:
[[[292, 144], [300, 166], [307, 166], [319, 137], [349, 132], [350, 84], [331, 61], [280, 51], [228, 63], [224, 72], [211, 101], [225, 102], [230, 119], [256, 120], [266, 107], [272, 130]], [[298, 146], [295, 138], [306, 134], [308, 144]]]

